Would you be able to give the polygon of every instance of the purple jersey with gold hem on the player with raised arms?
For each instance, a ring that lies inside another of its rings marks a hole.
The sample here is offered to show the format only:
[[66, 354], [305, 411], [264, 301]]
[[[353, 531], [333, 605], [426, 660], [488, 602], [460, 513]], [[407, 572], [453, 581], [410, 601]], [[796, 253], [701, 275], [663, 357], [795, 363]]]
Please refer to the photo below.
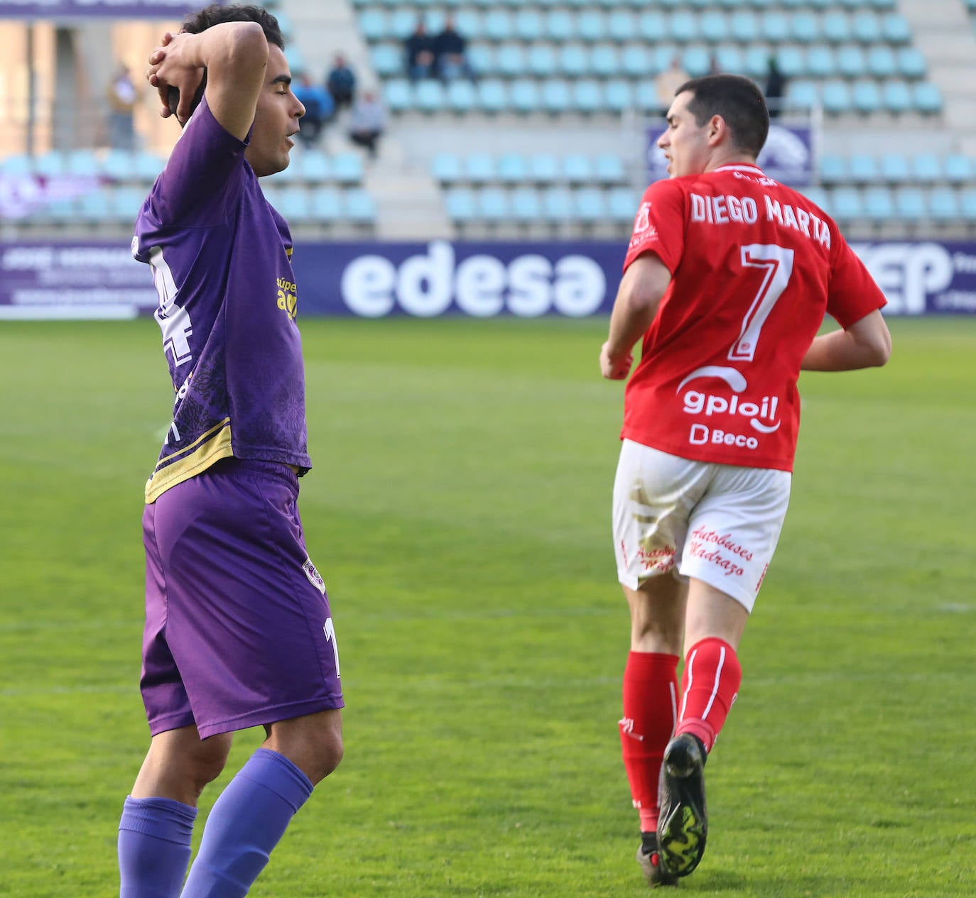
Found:
[[230, 455], [311, 466], [291, 234], [246, 146], [204, 98], [136, 221], [176, 391], [146, 502]]

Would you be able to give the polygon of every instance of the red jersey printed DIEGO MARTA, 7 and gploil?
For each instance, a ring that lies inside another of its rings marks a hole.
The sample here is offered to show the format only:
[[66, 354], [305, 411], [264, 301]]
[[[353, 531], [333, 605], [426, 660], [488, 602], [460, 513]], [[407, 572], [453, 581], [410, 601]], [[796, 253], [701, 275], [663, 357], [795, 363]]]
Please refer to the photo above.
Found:
[[884, 295], [830, 216], [737, 163], [651, 184], [627, 270], [671, 271], [627, 385], [622, 436], [700, 461], [793, 470], [799, 366], [830, 313], [847, 328]]

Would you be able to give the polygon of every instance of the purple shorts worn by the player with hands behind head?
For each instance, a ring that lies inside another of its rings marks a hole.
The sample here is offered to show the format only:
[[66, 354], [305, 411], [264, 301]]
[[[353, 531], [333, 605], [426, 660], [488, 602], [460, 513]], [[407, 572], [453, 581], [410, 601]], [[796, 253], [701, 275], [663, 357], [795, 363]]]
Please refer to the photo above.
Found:
[[343, 707], [325, 584], [305, 551], [298, 478], [227, 458], [142, 516], [142, 701], [153, 735], [200, 738]]

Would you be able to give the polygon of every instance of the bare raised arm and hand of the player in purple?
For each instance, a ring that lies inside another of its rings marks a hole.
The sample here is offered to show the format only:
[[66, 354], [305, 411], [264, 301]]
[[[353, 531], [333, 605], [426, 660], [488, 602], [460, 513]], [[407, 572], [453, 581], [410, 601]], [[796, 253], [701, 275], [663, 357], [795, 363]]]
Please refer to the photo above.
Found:
[[149, 57], [146, 77], [159, 91], [163, 117], [172, 111], [169, 89], [180, 91], [176, 115], [183, 125], [206, 75], [207, 104], [214, 118], [229, 134], [244, 139], [254, 122], [267, 57], [267, 39], [258, 22], [227, 21], [199, 34], [165, 35]]

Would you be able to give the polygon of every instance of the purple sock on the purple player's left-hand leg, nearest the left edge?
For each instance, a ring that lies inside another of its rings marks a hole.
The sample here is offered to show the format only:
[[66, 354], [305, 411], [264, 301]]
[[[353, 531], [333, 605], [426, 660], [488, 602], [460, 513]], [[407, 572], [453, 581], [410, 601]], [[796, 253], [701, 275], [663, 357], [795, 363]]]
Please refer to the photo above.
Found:
[[196, 808], [127, 798], [119, 821], [119, 898], [179, 898]]

